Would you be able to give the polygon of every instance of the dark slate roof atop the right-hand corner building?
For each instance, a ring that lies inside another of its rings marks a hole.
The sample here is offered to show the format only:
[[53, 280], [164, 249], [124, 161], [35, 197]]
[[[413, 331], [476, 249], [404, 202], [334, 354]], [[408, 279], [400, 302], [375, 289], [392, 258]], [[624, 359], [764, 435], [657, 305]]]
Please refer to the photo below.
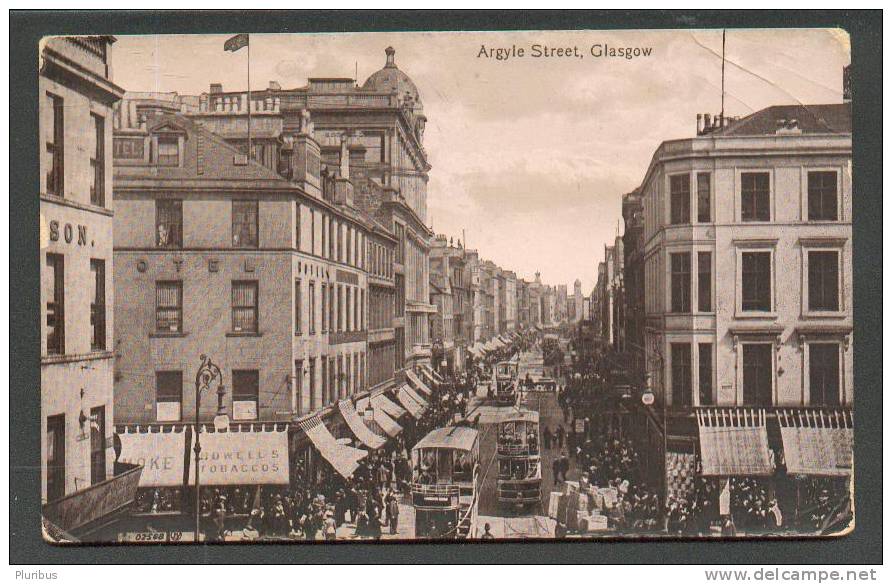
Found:
[[722, 130], [717, 136], [773, 136], [778, 120], [799, 121], [803, 134], [851, 134], [852, 104], [831, 103], [821, 105], [773, 105], [740, 119]]

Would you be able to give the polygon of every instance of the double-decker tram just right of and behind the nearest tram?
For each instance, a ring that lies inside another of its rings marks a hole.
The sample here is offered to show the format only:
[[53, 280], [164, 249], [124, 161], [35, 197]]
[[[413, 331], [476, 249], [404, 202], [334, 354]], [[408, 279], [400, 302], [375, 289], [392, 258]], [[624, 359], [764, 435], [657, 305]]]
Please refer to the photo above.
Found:
[[496, 455], [499, 503], [519, 508], [539, 504], [542, 485], [539, 413], [517, 409], [502, 415]]

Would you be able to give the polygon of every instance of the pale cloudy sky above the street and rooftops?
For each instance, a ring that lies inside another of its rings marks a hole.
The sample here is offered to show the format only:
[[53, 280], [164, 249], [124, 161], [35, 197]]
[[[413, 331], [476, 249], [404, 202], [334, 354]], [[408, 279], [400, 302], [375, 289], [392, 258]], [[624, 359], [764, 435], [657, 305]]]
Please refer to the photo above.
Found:
[[[244, 90], [247, 51], [224, 52], [229, 36], [119, 36], [114, 80], [129, 91]], [[534, 44], [584, 56], [534, 58]], [[599, 58], [594, 44], [652, 55]], [[604, 245], [622, 233], [621, 197], [654, 150], [721, 109], [721, 31], [252, 34], [251, 87], [357, 70], [362, 84], [388, 45], [428, 118], [428, 224], [447, 237], [464, 229], [482, 257], [571, 293], [576, 278], [586, 294], [594, 286]], [[478, 57], [512, 45], [526, 55]], [[842, 31], [729, 30], [725, 54], [727, 115], [842, 101]]]

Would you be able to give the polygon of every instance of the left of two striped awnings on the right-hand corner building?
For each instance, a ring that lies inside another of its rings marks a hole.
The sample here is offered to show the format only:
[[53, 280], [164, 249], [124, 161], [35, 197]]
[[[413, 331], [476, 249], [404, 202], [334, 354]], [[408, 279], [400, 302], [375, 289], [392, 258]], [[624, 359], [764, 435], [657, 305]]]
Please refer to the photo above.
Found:
[[697, 422], [703, 476], [768, 476], [774, 472], [765, 410], [708, 408], [697, 412]]

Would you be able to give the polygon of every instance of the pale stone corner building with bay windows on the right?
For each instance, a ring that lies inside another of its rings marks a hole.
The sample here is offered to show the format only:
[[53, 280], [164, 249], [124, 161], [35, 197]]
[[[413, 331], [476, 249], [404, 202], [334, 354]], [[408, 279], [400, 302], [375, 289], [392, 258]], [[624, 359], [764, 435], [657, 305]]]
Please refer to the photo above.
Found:
[[[669, 416], [667, 460], [714, 458], [717, 446], [701, 439], [708, 420], [695, 415], [705, 406], [765, 412], [772, 427], [783, 411], [803, 408], [808, 420], [847, 419], [851, 119], [848, 103], [773, 106], [716, 123], [698, 116], [696, 137], [654, 153], [640, 187], [645, 356]], [[764, 431], [766, 422], [750, 416], [743, 425]], [[781, 460], [788, 445], [774, 432], [766, 440]], [[789, 465], [794, 453], [786, 454]], [[832, 458], [850, 471], [850, 457]], [[752, 472], [773, 472], [770, 460], [760, 464]]]

